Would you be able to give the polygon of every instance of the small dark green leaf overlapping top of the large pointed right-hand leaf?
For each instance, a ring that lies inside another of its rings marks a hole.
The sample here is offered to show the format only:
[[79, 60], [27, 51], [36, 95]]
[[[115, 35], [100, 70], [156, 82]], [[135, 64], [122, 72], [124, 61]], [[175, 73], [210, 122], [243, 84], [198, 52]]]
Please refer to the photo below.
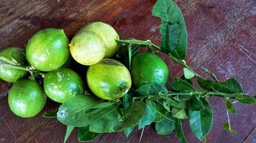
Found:
[[196, 97], [195, 95], [192, 95], [189, 100], [189, 109], [192, 111], [201, 111], [204, 109], [204, 104], [201, 102], [200, 97]]

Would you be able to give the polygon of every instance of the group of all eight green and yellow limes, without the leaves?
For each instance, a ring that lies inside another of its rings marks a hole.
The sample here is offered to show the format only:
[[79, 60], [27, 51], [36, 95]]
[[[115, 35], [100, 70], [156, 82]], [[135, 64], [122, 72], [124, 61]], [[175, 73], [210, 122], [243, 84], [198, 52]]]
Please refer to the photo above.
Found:
[[[19, 117], [34, 117], [45, 106], [47, 97], [64, 103], [85, 93], [85, 85], [96, 97], [120, 99], [132, 81], [134, 87], [157, 82], [166, 84], [168, 67], [155, 54], [137, 54], [129, 70], [114, 57], [119, 35], [109, 24], [93, 22], [83, 26], [69, 43], [63, 29], [38, 31], [24, 49], [10, 47], [0, 51], [0, 78], [14, 83], [9, 91], [9, 107]], [[70, 56], [71, 55], [71, 56]], [[26, 60], [27, 59], [27, 60]], [[86, 79], [68, 68], [72, 60], [88, 66]], [[29, 75], [30, 73], [30, 75]]]

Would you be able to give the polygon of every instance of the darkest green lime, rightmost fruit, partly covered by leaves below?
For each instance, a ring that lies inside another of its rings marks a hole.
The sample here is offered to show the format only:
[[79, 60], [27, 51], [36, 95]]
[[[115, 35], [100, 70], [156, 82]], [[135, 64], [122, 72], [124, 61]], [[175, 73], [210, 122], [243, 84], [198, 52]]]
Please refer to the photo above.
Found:
[[159, 56], [152, 53], [140, 53], [132, 58], [132, 82], [135, 87], [156, 82], [166, 84], [168, 81], [168, 66]]

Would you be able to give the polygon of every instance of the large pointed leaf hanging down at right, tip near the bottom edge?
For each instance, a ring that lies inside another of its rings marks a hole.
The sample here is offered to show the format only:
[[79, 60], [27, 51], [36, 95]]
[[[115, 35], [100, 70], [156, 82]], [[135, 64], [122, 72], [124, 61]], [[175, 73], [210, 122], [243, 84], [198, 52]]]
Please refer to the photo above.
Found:
[[189, 123], [193, 134], [195, 134], [198, 139], [203, 141], [211, 130], [213, 116], [211, 108], [206, 100], [201, 98], [201, 102], [204, 104], [204, 109], [201, 111], [189, 109], [188, 113]]

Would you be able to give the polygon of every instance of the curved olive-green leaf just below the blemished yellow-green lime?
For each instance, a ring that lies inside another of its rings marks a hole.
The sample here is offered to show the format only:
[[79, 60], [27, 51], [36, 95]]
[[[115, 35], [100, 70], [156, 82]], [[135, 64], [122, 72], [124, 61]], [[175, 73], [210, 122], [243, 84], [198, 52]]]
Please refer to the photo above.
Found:
[[127, 116], [127, 119], [117, 123], [119, 124], [119, 129], [134, 127], [145, 114], [145, 110], [146, 104], [144, 102], [134, 102], [131, 107], [124, 111], [123, 116]]

